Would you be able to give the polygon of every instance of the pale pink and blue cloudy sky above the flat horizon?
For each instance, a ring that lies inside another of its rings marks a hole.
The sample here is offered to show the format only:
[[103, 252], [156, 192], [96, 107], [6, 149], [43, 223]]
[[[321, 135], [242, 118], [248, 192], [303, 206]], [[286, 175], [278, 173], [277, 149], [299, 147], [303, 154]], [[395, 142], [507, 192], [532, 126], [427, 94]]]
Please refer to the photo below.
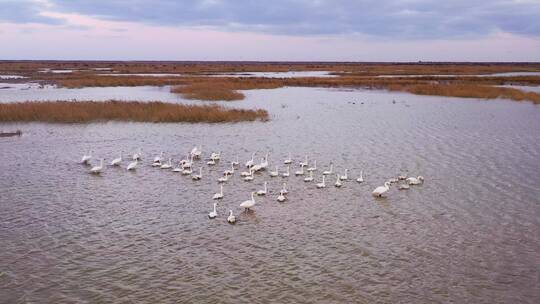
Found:
[[0, 59], [540, 62], [540, 0], [0, 0]]

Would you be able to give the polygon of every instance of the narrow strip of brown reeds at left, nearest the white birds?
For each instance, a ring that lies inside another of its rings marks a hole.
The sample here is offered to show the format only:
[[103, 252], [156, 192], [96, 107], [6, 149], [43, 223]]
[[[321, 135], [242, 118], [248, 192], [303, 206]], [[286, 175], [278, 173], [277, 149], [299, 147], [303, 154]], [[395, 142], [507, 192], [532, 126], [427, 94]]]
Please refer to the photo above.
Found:
[[88, 123], [133, 122], [241, 122], [268, 120], [266, 110], [229, 109], [218, 105], [183, 105], [163, 102], [27, 101], [0, 103], [0, 122]]

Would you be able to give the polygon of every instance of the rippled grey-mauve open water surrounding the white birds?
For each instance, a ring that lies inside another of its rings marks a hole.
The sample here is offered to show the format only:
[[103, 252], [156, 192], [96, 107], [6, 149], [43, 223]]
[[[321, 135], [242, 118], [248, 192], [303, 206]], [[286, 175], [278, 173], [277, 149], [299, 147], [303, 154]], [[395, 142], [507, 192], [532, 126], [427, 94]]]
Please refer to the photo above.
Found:
[[[540, 107], [362, 90], [245, 93], [228, 104], [268, 109], [271, 121], [2, 124], [23, 131], [0, 139], [3, 302], [538, 302]], [[199, 182], [149, 164], [160, 151], [179, 160], [194, 144], [222, 151]], [[136, 172], [92, 176], [77, 164], [90, 148], [110, 161], [139, 147]], [[295, 164], [308, 154], [319, 170], [330, 161], [354, 179], [364, 170], [366, 182], [336, 189], [330, 178], [319, 190], [290, 177], [280, 204], [284, 179], [236, 175], [209, 220], [227, 160], [252, 151], [280, 169], [288, 152]], [[426, 182], [371, 196], [399, 173]], [[241, 214], [265, 180], [268, 197]]]

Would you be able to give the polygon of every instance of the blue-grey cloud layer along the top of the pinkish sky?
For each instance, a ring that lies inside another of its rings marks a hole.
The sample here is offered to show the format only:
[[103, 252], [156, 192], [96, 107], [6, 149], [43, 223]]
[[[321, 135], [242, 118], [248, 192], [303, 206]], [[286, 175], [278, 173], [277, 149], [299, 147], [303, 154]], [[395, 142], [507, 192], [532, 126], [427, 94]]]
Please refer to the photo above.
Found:
[[458, 39], [497, 32], [540, 36], [540, 1], [535, 0], [0, 0], [6, 2], [0, 20], [12, 22], [52, 22], [39, 14], [41, 9], [102, 20], [293, 36]]

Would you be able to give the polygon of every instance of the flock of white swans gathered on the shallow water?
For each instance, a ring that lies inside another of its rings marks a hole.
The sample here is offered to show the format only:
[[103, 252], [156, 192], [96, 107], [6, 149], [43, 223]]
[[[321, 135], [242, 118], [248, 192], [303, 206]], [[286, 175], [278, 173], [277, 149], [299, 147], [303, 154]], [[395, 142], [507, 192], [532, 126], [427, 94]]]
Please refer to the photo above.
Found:
[[[164, 159], [164, 152], [161, 152], [159, 155], [155, 156], [152, 162], [153, 167], [158, 167], [160, 169], [164, 170], [172, 170], [173, 172], [181, 173], [182, 175], [190, 175], [192, 180], [201, 180], [203, 178], [202, 175], [202, 165], [199, 167], [199, 170], [194, 170], [194, 163], [195, 161], [200, 161], [202, 158], [202, 147], [201, 146], [195, 146], [191, 150], [191, 152], [186, 154], [186, 158], [182, 159], [178, 162], [177, 166], [173, 166], [172, 158]], [[221, 152], [212, 152], [210, 154], [210, 157], [208, 158], [208, 161], [206, 164], [208, 166], [214, 166], [216, 165], [221, 159]], [[90, 165], [90, 161], [92, 160], [92, 151], [90, 150], [87, 154], [83, 155], [81, 159], [81, 163], [85, 165]], [[91, 174], [101, 174], [104, 170], [104, 160], [101, 158], [99, 160], [99, 165], [92, 166], [90, 169]], [[122, 166], [124, 161], [122, 152], [120, 152], [119, 157], [113, 159], [110, 162], [110, 166], [112, 167], [118, 167]], [[129, 163], [126, 166], [126, 170], [133, 171], [136, 170], [139, 166], [139, 163], [142, 162], [142, 150], [139, 149], [137, 152], [135, 152], [130, 160]], [[290, 167], [293, 163], [293, 160], [291, 158], [291, 154], [289, 153], [289, 156], [283, 161], [284, 165], [287, 165], [284, 172], [279, 172], [278, 166], [275, 166], [275, 170], [268, 169], [268, 153], [261, 159], [260, 163], [255, 163], [255, 153], [251, 155], [251, 159], [248, 160], [245, 163], [245, 167], [247, 168], [246, 171], [243, 171], [240, 173], [240, 177], [244, 181], [252, 181], [255, 177], [255, 172], [261, 172], [261, 171], [269, 171], [270, 177], [283, 177], [288, 178], [291, 176]], [[240, 166], [240, 163], [238, 161], [238, 156], [236, 156], [236, 160], [231, 161], [230, 169], [227, 169], [223, 172], [223, 176], [217, 179], [217, 182], [220, 183], [220, 192], [214, 194], [212, 197], [214, 200], [221, 200], [223, 199], [223, 183], [226, 183], [231, 176], [235, 174], [235, 172], [238, 170], [237, 168]], [[304, 182], [313, 182], [315, 180], [315, 177], [313, 176], [314, 172], [317, 172], [319, 169], [317, 168], [317, 161], [313, 161], [313, 165], [310, 166], [308, 156], [306, 155], [305, 159], [299, 163], [300, 168], [294, 172], [295, 176], [302, 177], [304, 176]], [[305, 168], [305, 169], [304, 169]], [[344, 174], [338, 174], [334, 172], [334, 166], [331, 163], [330, 168], [328, 170], [325, 170], [322, 172], [321, 175], [321, 181], [315, 184], [315, 187], [317, 189], [323, 189], [326, 188], [326, 176], [334, 175], [336, 176], [336, 181], [334, 182], [334, 186], [336, 188], [341, 188], [344, 182], [349, 180], [348, 176], [348, 169], [344, 170]], [[402, 181], [401, 183], [399, 183]], [[356, 182], [363, 183], [364, 177], [363, 177], [363, 171], [360, 171], [360, 176], [356, 179]], [[387, 182], [384, 183], [383, 186], [379, 186], [373, 190], [372, 195], [375, 197], [383, 197], [383, 195], [390, 190], [390, 185], [394, 183], [399, 183], [399, 190], [407, 190], [410, 188], [411, 185], [420, 185], [424, 182], [424, 178], [422, 176], [418, 177], [407, 177], [406, 175], [399, 175], [397, 178], [390, 178]], [[267, 188], [267, 182], [264, 182], [264, 189], [261, 189], [259, 191], [251, 192], [251, 198], [240, 203], [240, 207], [244, 208], [246, 212], [249, 212], [254, 206], [255, 206], [255, 195], [257, 196], [265, 196], [268, 193]], [[281, 190], [279, 191], [279, 195], [277, 196], [278, 202], [284, 202], [287, 200], [287, 184], [283, 183], [283, 186]], [[208, 217], [211, 219], [217, 218], [217, 203], [214, 203], [214, 209], [208, 214]], [[234, 224], [236, 222], [236, 217], [233, 214], [232, 210], [229, 210], [229, 216], [227, 217], [227, 222]]]

